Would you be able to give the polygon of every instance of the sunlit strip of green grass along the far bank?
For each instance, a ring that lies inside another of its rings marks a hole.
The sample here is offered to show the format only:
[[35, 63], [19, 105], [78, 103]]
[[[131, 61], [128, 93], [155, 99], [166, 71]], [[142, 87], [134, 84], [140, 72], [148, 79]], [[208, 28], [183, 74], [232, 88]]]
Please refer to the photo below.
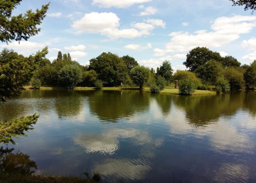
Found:
[[[33, 89], [30, 86], [24, 86], [25, 89]], [[40, 89], [44, 90], [53, 90], [53, 89], [66, 89], [66, 88], [58, 88], [58, 87], [41, 87]], [[75, 87], [75, 90], [97, 90], [94, 87]], [[120, 87], [103, 87], [101, 90], [121, 90]], [[123, 87], [122, 90], [139, 90], [137, 87]], [[144, 87], [143, 90], [149, 91], [149, 87]], [[164, 90], [160, 91], [160, 93], [166, 94], [179, 94], [179, 89], [175, 88], [165, 88]], [[216, 94], [215, 91], [208, 91], [208, 90], [196, 90], [193, 95], [213, 95]]]

